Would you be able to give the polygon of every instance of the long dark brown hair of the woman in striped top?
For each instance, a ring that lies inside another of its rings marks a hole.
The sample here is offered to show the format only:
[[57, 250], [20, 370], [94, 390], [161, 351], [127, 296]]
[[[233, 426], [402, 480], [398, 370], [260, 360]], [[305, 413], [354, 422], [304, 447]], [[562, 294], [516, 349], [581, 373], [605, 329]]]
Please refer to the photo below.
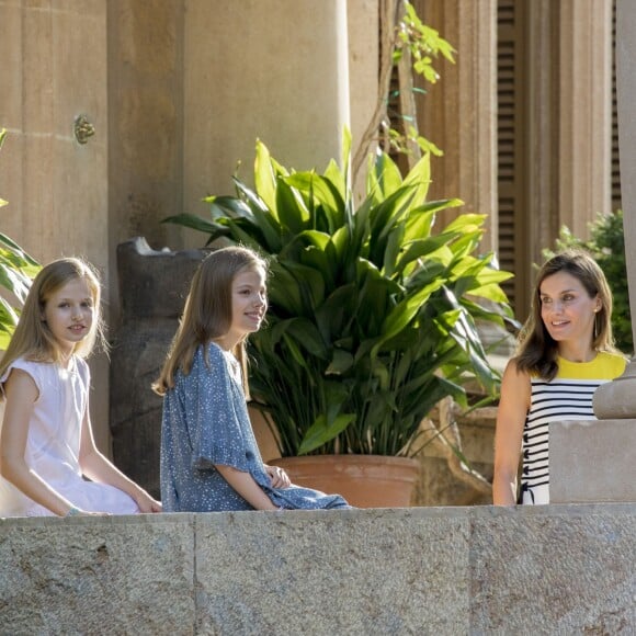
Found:
[[558, 344], [548, 333], [541, 317], [541, 285], [545, 279], [566, 272], [577, 279], [590, 298], [599, 296], [601, 308], [594, 316], [592, 349], [616, 351], [612, 336], [612, 292], [605, 274], [592, 257], [582, 250], [565, 250], [552, 257], [541, 268], [532, 296], [532, 308], [519, 339], [516, 366], [547, 381], [558, 372]]

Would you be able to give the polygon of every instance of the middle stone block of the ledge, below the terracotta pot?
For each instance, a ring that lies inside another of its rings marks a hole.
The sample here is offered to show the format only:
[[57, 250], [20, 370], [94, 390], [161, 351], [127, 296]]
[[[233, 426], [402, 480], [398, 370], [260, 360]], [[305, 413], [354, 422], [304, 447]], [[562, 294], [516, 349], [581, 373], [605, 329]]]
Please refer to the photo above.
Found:
[[197, 515], [197, 633], [466, 634], [456, 510]]

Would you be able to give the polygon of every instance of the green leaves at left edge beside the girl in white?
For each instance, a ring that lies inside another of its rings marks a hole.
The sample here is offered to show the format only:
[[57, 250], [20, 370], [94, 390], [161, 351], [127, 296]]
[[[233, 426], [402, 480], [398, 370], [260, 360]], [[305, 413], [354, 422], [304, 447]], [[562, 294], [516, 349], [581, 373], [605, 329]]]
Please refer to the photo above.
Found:
[[[7, 130], [0, 129], [0, 148]], [[7, 202], [0, 198], [0, 207]], [[31, 287], [31, 281], [39, 269], [20, 246], [0, 232], [0, 350], [7, 349], [20, 315], [15, 300], [22, 305]], [[7, 296], [7, 297], [4, 297]]]

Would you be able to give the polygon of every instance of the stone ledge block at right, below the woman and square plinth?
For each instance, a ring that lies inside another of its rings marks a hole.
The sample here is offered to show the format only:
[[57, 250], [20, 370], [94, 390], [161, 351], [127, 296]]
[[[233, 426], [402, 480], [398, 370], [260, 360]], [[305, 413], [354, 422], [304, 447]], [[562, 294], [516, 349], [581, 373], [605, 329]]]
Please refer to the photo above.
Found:
[[634, 634], [634, 506], [472, 513], [470, 634]]

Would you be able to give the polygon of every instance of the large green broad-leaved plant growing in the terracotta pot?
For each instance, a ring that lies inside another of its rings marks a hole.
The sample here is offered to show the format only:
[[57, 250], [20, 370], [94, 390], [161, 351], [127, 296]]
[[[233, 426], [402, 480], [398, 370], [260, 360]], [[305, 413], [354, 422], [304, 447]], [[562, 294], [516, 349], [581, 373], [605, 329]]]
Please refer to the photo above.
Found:
[[[499, 283], [511, 274], [474, 255], [484, 215], [439, 234], [427, 202], [429, 155], [402, 179], [386, 154], [370, 161], [355, 208], [349, 148], [339, 168], [293, 172], [257, 144], [255, 188], [209, 196], [212, 219], [166, 219], [270, 257], [268, 325], [250, 337], [251, 394], [275, 422], [283, 456], [409, 455], [421, 420], [445, 396], [466, 405], [463, 383], [495, 395], [475, 320], [512, 314]], [[477, 299], [486, 299], [484, 308]]]

